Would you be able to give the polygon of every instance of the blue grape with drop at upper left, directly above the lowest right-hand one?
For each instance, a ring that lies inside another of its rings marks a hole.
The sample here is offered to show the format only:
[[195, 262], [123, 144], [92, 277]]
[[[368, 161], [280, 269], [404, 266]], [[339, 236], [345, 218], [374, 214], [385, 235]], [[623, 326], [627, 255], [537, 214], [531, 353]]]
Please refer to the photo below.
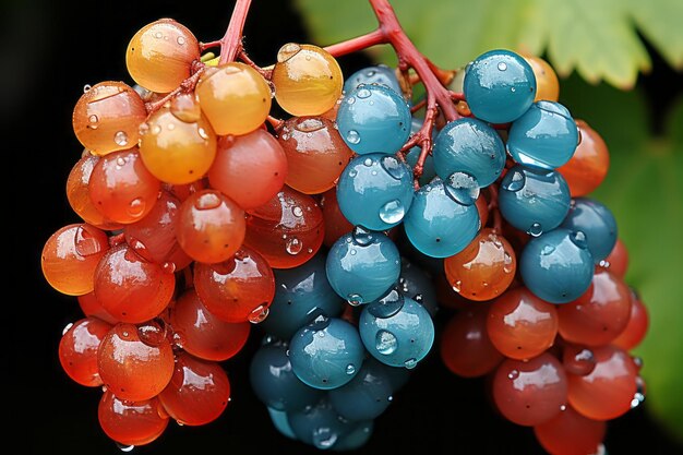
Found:
[[501, 182], [498, 203], [507, 223], [536, 237], [560, 226], [571, 201], [560, 172], [515, 165]]

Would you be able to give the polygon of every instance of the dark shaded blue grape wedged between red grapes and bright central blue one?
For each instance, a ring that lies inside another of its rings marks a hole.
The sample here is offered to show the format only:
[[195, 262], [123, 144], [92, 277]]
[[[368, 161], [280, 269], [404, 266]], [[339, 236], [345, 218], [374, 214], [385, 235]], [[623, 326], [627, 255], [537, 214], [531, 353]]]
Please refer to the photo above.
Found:
[[335, 318], [344, 310], [344, 300], [327, 282], [324, 254], [317, 253], [298, 267], [273, 273], [275, 298], [268, 316], [261, 323], [267, 333], [288, 340], [316, 316]]

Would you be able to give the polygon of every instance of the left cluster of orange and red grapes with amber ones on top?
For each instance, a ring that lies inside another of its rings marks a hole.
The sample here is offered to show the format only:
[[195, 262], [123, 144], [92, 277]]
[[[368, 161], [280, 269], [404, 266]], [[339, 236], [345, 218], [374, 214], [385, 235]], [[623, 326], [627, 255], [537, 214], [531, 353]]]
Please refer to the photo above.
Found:
[[[266, 81], [240, 62], [204, 65], [193, 34], [164, 19], [133, 36], [125, 61], [139, 85], [86, 86], [75, 105], [85, 151], [67, 195], [82, 220], [47, 240], [41, 266], [84, 313], [61, 339], [64, 371], [103, 386], [109, 438], [142, 445], [169, 419], [200, 426], [224, 411], [218, 362], [268, 314], [273, 268], [304, 263], [333, 235], [316, 195], [352, 153], [327, 113], [342, 71], [319, 47], [285, 45]], [[279, 136], [265, 128], [274, 94], [295, 116]]]

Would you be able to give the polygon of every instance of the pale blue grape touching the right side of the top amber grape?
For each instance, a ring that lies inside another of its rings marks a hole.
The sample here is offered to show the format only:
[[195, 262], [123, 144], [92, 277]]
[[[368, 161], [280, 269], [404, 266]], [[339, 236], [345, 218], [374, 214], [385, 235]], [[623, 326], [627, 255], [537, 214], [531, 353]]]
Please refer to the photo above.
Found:
[[337, 112], [342, 139], [359, 155], [398, 152], [410, 135], [410, 123], [406, 100], [384, 85], [359, 85]]

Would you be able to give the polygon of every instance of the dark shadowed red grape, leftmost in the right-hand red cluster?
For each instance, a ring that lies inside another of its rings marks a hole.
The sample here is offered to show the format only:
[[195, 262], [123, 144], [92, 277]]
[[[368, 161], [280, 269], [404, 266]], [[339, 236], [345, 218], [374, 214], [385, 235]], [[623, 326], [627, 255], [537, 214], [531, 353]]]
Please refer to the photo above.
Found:
[[469, 304], [448, 320], [441, 335], [441, 360], [452, 373], [478, 378], [492, 372], [503, 355], [487, 332], [488, 308]]

